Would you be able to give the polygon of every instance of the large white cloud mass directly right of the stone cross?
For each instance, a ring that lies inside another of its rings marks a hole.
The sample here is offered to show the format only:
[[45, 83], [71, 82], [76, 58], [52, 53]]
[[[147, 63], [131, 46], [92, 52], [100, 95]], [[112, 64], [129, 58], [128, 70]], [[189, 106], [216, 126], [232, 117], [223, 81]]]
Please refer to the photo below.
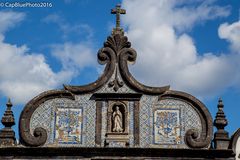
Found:
[[[229, 15], [228, 6], [214, 2], [123, 1], [128, 12], [123, 17], [127, 36], [138, 52], [137, 63], [131, 67], [137, 79], [155, 86], [170, 84], [172, 89], [199, 97], [214, 96], [236, 85], [240, 80], [236, 66], [240, 63], [235, 59], [240, 56], [199, 54], [194, 40], [186, 33], [196, 24]], [[234, 44], [236, 40], [233, 41]]]

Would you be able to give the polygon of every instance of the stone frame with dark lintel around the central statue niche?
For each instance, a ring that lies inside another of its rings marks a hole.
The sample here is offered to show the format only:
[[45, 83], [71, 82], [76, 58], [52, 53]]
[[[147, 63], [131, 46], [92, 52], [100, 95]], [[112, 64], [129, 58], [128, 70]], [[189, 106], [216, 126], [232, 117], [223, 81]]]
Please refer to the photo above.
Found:
[[[134, 137], [134, 146], [139, 145], [139, 101], [142, 97], [142, 94], [139, 93], [95, 93], [92, 95], [91, 99], [96, 101], [96, 133], [95, 133], [95, 143], [97, 146], [101, 146], [102, 137], [102, 102], [105, 102], [107, 106], [107, 130], [104, 146], [108, 147], [111, 143], [119, 142], [121, 146], [129, 146], [129, 102], [134, 103], [134, 128], [133, 128], [133, 137]], [[122, 114], [124, 110], [124, 131], [122, 133], [112, 132], [112, 113], [113, 107], [115, 105], [121, 105], [124, 109], [122, 109]]]

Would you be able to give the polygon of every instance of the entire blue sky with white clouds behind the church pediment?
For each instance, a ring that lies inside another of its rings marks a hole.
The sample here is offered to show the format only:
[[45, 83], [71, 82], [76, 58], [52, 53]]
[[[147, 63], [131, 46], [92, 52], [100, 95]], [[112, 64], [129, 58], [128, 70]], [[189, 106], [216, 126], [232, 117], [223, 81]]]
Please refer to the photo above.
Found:
[[222, 97], [227, 130], [240, 127], [239, 0], [49, 0], [52, 7], [43, 8], [6, 2], [0, 0], [1, 115], [7, 97], [18, 119], [42, 91], [96, 80], [103, 69], [97, 50], [115, 25], [110, 9], [121, 3], [122, 26], [138, 52], [130, 67], [136, 79], [191, 93], [213, 118]]

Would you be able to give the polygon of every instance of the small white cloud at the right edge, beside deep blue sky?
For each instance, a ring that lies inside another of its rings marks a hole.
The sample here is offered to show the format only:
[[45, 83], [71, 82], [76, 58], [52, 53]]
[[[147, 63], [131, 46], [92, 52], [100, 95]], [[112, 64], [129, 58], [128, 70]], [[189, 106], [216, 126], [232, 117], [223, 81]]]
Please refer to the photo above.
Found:
[[220, 38], [226, 39], [231, 43], [231, 48], [240, 53], [240, 21], [222, 24], [218, 29]]

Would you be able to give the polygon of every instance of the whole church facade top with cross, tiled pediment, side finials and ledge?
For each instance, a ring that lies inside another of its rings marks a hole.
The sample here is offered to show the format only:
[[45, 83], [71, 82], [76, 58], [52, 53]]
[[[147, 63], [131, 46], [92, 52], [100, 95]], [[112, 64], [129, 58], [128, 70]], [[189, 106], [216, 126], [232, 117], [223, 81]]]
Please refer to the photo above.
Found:
[[[0, 159], [237, 159], [240, 129], [229, 136], [221, 99], [215, 119], [194, 96], [150, 87], [128, 69], [136, 51], [120, 27], [97, 54], [103, 74], [85, 86], [64, 85], [28, 102], [19, 119], [19, 144], [11, 127], [12, 104], [2, 118]], [[213, 128], [216, 132], [213, 133]]]

